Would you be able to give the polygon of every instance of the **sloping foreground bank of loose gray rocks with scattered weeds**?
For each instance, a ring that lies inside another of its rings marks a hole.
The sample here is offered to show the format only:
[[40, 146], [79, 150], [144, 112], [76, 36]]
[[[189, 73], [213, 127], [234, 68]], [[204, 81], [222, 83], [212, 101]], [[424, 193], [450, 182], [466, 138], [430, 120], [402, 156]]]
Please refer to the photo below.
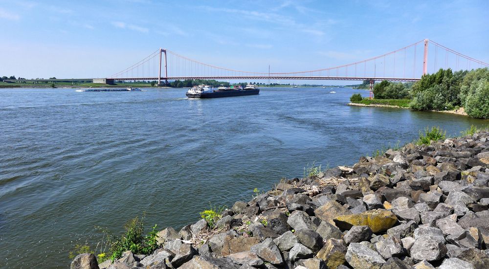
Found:
[[179, 231], [144, 236], [135, 218], [94, 251], [77, 245], [71, 269], [488, 268], [489, 132], [445, 134], [426, 128], [351, 167], [313, 164]]

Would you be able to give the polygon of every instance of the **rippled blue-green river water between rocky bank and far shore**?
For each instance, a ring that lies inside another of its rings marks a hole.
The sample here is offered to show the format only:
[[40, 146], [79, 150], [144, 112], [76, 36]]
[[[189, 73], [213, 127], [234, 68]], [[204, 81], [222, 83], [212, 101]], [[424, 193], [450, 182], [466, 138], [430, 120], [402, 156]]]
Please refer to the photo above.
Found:
[[121, 232], [199, 218], [248, 201], [315, 161], [352, 165], [426, 126], [458, 135], [484, 120], [350, 107], [349, 88], [271, 88], [194, 100], [186, 89], [76, 92], [0, 90], [0, 268], [67, 268], [94, 226]]

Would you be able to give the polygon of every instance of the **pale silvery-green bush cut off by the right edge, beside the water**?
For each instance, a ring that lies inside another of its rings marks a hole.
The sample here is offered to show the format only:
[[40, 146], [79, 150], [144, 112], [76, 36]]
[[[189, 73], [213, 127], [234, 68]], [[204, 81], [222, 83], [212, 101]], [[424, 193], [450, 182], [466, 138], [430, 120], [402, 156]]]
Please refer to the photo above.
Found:
[[473, 118], [489, 118], [489, 82], [481, 79], [471, 85], [465, 102], [465, 111]]

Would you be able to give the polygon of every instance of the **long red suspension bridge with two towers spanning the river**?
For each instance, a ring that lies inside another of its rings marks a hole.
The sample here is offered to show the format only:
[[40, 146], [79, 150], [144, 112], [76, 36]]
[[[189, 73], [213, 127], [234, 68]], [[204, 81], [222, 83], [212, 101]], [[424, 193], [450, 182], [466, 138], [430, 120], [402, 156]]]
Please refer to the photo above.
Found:
[[479, 67], [489, 67], [489, 64], [425, 39], [363, 61], [296, 72], [251, 72], [217, 67], [160, 48], [108, 79], [157, 80], [159, 85], [162, 80], [168, 83], [168, 80], [186, 79], [370, 80], [373, 84], [379, 80], [417, 81], [423, 74], [434, 73], [439, 68], [461, 70]]

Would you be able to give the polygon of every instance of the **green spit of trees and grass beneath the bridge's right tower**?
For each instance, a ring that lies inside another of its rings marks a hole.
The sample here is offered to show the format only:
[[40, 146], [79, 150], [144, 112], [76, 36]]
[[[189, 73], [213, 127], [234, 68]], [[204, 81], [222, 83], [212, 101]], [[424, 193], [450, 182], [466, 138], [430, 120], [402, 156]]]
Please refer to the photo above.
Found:
[[[363, 89], [367, 81], [356, 85]], [[440, 69], [407, 83], [382, 81], [374, 86], [374, 99], [354, 94], [350, 101], [365, 106], [389, 105], [421, 111], [439, 111], [489, 119], [489, 68]], [[399, 100], [399, 101], [398, 101]], [[359, 105], [361, 106], [361, 105]]]

